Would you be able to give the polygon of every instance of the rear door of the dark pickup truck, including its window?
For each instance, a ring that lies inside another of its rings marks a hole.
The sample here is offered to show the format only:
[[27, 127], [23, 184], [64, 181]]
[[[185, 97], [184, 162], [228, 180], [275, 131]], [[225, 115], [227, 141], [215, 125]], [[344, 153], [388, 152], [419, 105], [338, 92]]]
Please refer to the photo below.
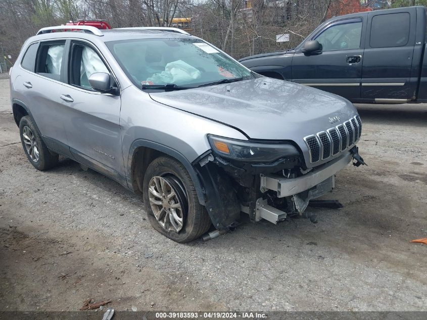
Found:
[[379, 103], [404, 102], [415, 92], [409, 89], [416, 87], [417, 80], [411, 83], [416, 27], [415, 10], [412, 9], [368, 14], [362, 99]]

